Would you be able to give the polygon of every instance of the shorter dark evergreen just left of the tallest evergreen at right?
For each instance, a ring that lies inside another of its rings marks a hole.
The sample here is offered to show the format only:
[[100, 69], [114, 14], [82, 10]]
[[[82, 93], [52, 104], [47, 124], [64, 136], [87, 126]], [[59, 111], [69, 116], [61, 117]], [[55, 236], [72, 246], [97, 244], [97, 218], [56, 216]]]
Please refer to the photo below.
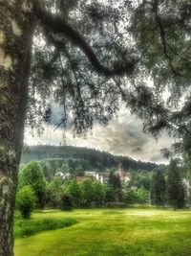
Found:
[[166, 182], [164, 175], [157, 171], [151, 180], [151, 202], [157, 206], [165, 204]]

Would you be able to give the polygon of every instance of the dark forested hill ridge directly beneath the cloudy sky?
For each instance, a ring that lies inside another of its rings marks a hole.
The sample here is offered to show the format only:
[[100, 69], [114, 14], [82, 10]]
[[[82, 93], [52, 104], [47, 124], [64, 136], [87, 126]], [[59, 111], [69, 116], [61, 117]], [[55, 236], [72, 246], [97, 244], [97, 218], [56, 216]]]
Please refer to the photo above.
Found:
[[157, 167], [154, 163], [136, 161], [127, 156], [117, 156], [105, 151], [72, 146], [30, 146], [29, 150], [23, 152], [21, 162], [28, 163], [32, 159], [47, 158], [83, 159], [89, 163], [90, 170], [98, 169], [100, 171], [106, 168], [117, 168], [118, 163], [122, 163], [125, 171], [129, 169], [151, 171]]

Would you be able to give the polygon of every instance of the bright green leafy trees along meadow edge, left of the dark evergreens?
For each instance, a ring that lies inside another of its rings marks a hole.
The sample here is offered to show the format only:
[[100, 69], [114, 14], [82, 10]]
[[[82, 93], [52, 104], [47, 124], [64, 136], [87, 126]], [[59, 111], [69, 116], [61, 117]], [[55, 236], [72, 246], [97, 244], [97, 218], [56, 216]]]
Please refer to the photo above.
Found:
[[[107, 184], [102, 184], [91, 177], [77, 181], [76, 175], [83, 172], [79, 169], [76, 170], [75, 175], [70, 175], [67, 179], [54, 176], [51, 181], [47, 181], [40, 163], [33, 160], [19, 173], [16, 205], [23, 217], [28, 218], [34, 207], [67, 209], [100, 205], [124, 206], [135, 202], [147, 202], [147, 191], [143, 186], [137, 191], [129, 189], [127, 185], [122, 184], [115, 171], [115, 169], [108, 171], [110, 175]], [[29, 209], [29, 213], [26, 209]]]

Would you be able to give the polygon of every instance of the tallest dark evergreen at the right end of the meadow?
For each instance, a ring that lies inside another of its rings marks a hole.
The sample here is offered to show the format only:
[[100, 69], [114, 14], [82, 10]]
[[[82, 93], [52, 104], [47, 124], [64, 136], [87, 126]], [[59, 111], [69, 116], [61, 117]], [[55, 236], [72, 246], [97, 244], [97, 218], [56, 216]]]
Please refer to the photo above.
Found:
[[171, 160], [166, 181], [167, 201], [174, 209], [183, 208], [185, 196], [185, 190], [178, 167], [178, 160]]

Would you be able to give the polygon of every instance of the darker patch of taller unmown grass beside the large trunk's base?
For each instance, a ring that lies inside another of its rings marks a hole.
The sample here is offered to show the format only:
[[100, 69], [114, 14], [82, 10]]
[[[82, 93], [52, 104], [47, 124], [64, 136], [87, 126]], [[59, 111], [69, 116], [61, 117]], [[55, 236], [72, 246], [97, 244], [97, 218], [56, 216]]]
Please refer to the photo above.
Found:
[[42, 231], [54, 230], [63, 227], [68, 227], [76, 223], [75, 219], [34, 219], [34, 220], [15, 220], [14, 223], [14, 238], [26, 238]]

